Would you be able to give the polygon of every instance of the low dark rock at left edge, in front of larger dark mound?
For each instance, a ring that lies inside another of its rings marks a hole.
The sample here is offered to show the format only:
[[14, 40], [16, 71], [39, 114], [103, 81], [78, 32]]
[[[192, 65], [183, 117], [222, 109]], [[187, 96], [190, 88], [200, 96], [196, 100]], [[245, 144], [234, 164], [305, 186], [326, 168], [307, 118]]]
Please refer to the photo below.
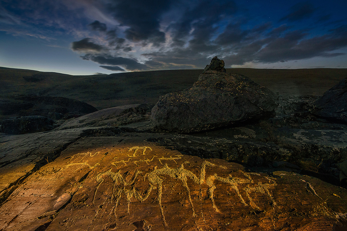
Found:
[[20, 116], [2, 121], [1, 132], [25, 134], [45, 132], [53, 128], [53, 120], [44, 116]]

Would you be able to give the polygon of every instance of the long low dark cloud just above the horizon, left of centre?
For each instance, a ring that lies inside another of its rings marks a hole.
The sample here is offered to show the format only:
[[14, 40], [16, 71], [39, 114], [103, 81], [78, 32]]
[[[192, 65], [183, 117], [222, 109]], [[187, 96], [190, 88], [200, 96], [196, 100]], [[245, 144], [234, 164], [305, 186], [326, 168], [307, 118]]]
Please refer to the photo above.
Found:
[[[110, 66], [124, 66], [129, 71], [146, 70], [147, 66], [137, 62], [135, 59], [128, 59], [124, 57], [114, 57], [109, 54], [86, 54], [81, 56], [84, 60], [90, 60], [99, 64], [110, 65]], [[105, 68], [105, 67], [103, 67]]]

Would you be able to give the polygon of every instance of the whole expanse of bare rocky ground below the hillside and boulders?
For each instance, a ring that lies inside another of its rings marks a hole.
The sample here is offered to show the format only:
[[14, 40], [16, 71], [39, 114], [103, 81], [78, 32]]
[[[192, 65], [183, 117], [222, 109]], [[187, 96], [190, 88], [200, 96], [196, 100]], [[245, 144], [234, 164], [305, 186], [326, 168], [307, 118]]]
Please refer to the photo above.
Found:
[[346, 230], [347, 125], [318, 99], [193, 133], [154, 126], [154, 104], [1, 133], [0, 230]]

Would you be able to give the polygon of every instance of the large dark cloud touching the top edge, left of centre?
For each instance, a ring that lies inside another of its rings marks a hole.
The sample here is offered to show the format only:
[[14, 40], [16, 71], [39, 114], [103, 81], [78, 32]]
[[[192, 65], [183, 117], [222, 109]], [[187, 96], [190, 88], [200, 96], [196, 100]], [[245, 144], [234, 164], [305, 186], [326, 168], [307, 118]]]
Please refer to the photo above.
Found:
[[113, 0], [109, 10], [122, 26], [129, 26], [125, 31], [131, 41], [165, 41], [165, 34], [159, 30], [160, 18], [174, 0]]

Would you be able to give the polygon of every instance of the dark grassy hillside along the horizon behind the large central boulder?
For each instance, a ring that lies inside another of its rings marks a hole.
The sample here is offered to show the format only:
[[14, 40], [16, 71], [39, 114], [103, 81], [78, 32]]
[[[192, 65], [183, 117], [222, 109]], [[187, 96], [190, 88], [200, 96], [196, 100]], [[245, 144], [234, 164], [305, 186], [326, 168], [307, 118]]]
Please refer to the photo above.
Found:
[[[0, 100], [17, 94], [59, 96], [81, 100], [103, 109], [152, 103], [159, 96], [191, 87], [203, 70], [164, 70], [110, 75], [68, 75], [0, 68]], [[227, 69], [278, 91], [281, 95], [322, 95], [347, 77], [347, 69]]]

